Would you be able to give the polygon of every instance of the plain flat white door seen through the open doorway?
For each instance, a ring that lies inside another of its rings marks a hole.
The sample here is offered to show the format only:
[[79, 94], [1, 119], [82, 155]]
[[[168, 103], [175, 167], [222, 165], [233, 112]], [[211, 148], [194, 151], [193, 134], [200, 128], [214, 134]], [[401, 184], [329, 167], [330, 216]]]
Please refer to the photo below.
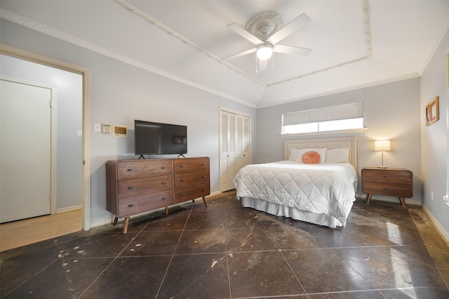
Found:
[[0, 223], [50, 214], [51, 89], [0, 83]]

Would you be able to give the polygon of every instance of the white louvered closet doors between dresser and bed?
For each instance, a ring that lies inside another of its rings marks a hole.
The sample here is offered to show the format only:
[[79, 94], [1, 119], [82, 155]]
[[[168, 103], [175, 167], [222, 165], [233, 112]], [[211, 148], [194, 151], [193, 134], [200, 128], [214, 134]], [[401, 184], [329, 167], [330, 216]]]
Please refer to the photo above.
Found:
[[220, 112], [220, 192], [235, 189], [232, 180], [250, 163], [250, 119]]

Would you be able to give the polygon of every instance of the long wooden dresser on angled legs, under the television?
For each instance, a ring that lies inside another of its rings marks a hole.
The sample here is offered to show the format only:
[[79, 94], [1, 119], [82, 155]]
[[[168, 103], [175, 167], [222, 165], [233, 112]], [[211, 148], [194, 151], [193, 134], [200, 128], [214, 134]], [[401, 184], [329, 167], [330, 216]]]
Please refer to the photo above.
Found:
[[[128, 231], [130, 215], [210, 194], [208, 157], [180, 159], [110, 160], [106, 162], [107, 211], [125, 218], [123, 234]], [[207, 206], [207, 205], [206, 205]]]

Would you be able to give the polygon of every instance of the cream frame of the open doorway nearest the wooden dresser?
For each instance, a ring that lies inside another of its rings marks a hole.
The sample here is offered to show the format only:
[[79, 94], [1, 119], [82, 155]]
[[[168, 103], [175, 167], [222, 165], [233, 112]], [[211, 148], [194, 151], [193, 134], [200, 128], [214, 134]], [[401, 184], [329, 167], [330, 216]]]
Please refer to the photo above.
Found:
[[91, 229], [91, 70], [86, 67], [74, 65], [69, 62], [49, 58], [44, 55], [0, 44], [0, 53], [22, 60], [39, 63], [67, 72], [81, 74], [83, 77], [83, 137], [82, 137], [82, 206], [83, 206], [83, 230]]

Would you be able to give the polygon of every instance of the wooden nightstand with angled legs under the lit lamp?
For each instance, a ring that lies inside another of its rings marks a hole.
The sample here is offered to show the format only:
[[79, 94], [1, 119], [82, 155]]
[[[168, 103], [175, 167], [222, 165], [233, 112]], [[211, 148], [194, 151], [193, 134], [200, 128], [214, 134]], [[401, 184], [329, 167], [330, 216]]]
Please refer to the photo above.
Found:
[[366, 204], [373, 194], [386, 195], [398, 197], [406, 209], [404, 198], [413, 197], [413, 173], [404, 168], [363, 168], [362, 192], [368, 193]]

